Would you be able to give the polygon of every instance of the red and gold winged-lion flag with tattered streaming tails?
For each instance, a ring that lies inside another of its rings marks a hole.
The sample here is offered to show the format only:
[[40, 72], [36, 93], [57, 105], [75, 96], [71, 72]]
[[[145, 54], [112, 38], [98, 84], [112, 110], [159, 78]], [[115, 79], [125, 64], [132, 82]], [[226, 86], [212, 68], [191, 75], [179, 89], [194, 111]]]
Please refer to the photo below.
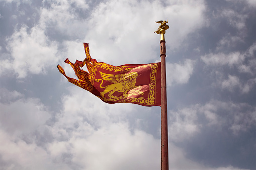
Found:
[[[125, 64], [112, 66], [92, 59], [89, 44], [83, 43], [87, 58], [65, 63], [75, 71], [78, 80], [66, 76], [59, 65], [59, 72], [70, 83], [93, 93], [106, 103], [134, 103], [142, 106], [161, 105], [161, 63]], [[87, 71], [81, 69], [87, 66]]]

